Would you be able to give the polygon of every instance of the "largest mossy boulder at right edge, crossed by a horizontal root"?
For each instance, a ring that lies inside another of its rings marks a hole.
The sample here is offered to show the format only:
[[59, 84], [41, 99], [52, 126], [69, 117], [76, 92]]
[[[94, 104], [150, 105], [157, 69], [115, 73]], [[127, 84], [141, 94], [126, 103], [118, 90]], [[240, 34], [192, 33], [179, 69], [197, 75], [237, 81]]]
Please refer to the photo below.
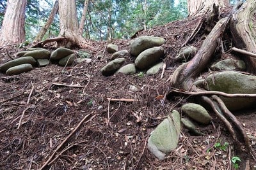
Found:
[[[256, 76], [250, 76], [236, 71], [223, 71], [207, 76], [204, 88], [225, 92], [228, 94], [256, 94]], [[255, 98], [221, 97], [228, 110], [236, 111], [255, 107]]]

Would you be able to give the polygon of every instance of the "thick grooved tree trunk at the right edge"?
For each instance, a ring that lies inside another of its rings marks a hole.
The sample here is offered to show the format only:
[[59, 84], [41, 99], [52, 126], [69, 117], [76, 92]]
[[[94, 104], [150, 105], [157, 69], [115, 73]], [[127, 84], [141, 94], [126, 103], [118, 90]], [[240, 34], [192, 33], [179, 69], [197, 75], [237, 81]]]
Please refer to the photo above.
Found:
[[[231, 32], [235, 45], [256, 53], [256, 1], [247, 0], [240, 10], [232, 17]], [[245, 59], [248, 71], [256, 73], [256, 59], [247, 56]]]

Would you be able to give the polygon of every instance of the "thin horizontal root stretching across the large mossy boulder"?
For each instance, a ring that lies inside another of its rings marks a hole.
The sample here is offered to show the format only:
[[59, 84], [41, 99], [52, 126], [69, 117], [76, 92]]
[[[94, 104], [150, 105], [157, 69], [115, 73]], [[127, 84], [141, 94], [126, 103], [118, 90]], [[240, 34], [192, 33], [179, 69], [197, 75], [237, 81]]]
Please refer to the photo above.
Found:
[[228, 94], [225, 92], [219, 92], [219, 91], [204, 91], [204, 92], [189, 92], [186, 90], [180, 90], [180, 89], [173, 89], [168, 93], [168, 97], [170, 97], [171, 93], [176, 92], [180, 94], [186, 94], [190, 96], [212, 96], [212, 95], [220, 95], [224, 97], [229, 98], [236, 98], [236, 97], [250, 97], [255, 98], [256, 94]]

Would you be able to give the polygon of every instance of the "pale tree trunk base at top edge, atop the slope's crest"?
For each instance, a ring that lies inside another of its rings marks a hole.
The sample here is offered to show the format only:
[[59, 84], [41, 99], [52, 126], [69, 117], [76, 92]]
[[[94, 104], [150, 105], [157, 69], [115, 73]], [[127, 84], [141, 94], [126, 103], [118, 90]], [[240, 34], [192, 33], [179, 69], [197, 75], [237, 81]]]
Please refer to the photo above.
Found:
[[213, 4], [220, 8], [229, 6], [228, 0], [188, 0], [188, 13], [189, 17], [204, 15], [211, 10]]

